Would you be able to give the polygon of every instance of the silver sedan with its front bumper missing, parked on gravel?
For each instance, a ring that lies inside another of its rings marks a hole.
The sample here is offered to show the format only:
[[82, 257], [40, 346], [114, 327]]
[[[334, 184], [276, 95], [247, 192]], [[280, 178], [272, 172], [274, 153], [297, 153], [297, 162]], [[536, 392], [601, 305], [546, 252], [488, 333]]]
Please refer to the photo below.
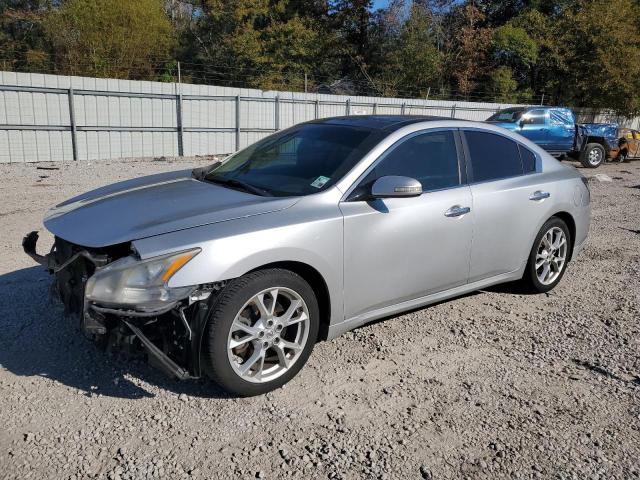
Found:
[[234, 395], [293, 378], [318, 340], [502, 282], [554, 288], [583, 247], [585, 179], [483, 123], [353, 116], [223, 163], [99, 188], [25, 251], [82, 330]]

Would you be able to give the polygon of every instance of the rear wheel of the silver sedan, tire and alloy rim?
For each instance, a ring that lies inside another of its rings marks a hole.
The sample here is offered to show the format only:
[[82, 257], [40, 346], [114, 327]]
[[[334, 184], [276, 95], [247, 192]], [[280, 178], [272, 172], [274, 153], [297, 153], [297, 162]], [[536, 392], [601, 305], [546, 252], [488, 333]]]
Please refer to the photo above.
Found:
[[567, 224], [552, 217], [542, 226], [529, 254], [522, 277], [529, 290], [545, 293], [562, 280], [571, 254], [571, 235]]

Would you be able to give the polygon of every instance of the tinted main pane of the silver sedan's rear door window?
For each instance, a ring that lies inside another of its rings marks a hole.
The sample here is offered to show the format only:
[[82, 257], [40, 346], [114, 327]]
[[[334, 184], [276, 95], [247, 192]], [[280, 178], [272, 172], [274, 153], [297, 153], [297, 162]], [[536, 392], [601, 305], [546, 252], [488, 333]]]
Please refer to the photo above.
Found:
[[465, 131], [464, 136], [469, 147], [471, 178], [474, 182], [522, 175], [522, 162], [516, 142], [495, 133], [474, 130]]

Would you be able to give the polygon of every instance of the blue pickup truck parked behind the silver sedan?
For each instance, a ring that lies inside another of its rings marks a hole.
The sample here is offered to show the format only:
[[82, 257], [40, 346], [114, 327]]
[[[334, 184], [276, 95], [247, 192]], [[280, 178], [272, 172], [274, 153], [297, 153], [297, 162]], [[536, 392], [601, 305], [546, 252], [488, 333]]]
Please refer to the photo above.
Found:
[[618, 125], [576, 124], [569, 108], [506, 108], [489, 117], [487, 122], [519, 133], [556, 157], [580, 160], [587, 168], [600, 166], [618, 149]]

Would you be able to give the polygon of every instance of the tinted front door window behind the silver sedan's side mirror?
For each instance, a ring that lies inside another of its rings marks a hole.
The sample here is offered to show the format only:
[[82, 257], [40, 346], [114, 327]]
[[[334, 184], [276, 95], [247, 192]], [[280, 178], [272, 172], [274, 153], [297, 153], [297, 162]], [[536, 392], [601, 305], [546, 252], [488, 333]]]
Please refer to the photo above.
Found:
[[429, 192], [460, 185], [460, 169], [452, 131], [413, 135], [391, 147], [357, 189], [371, 189], [380, 177], [411, 177]]

